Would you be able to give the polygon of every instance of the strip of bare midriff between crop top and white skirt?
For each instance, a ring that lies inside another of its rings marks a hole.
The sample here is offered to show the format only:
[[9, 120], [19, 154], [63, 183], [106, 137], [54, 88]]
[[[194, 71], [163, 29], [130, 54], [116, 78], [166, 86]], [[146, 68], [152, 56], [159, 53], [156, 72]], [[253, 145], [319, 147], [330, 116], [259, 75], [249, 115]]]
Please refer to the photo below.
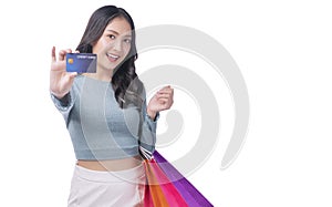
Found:
[[77, 165], [92, 170], [100, 172], [117, 172], [137, 167], [142, 164], [139, 155], [121, 158], [121, 159], [103, 159], [103, 161], [84, 161], [79, 159]]

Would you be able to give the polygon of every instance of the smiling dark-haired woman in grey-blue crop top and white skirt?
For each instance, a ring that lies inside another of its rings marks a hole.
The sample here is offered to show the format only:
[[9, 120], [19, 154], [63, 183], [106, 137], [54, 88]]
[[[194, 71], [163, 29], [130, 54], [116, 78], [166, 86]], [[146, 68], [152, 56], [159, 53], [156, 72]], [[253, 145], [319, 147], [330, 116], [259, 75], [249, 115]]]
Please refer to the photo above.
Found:
[[[146, 104], [135, 72], [135, 27], [122, 8], [105, 6], [90, 18], [75, 52], [97, 54], [96, 73], [69, 73], [65, 55], [52, 49], [50, 92], [62, 113], [76, 156], [69, 206], [141, 206], [144, 168], [152, 154], [158, 113], [173, 104], [160, 89]], [[141, 148], [141, 151], [139, 151]]]

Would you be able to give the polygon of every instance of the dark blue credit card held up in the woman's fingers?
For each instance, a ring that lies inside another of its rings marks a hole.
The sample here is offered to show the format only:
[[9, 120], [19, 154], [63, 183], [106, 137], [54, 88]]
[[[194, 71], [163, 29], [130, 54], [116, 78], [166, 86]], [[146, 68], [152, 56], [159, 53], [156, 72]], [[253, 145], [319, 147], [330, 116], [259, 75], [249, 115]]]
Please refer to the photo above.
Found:
[[68, 53], [66, 71], [77, 73], [96, 73], [96, 54]]

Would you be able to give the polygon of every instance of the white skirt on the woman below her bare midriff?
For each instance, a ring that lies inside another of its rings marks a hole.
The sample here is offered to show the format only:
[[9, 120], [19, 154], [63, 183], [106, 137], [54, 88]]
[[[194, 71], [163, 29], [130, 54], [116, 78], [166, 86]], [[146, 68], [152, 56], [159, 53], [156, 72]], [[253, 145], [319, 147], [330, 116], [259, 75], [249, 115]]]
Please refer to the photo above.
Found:
[[118, 172], [92, 170], [75, 165], [69, 207], [144, 206], [144, 166]]

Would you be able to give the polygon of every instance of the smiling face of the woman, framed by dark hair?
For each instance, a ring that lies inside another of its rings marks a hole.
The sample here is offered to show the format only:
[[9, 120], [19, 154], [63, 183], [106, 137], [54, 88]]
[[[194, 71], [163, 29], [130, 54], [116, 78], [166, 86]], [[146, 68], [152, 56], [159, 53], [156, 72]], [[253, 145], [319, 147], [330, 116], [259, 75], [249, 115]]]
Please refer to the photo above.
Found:
[[113, 19], [93, 45], [98, 70], [114, 70], [128, 54], [131, 44], [131, 24], [124, 18]]

